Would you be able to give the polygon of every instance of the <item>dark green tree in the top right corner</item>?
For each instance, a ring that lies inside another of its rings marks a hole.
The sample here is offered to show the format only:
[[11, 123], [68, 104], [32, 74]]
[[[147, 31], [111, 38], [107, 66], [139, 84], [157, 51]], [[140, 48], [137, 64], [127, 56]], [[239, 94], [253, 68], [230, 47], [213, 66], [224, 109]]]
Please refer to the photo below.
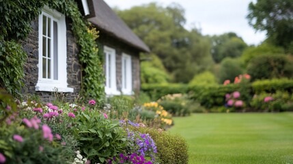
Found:
[[266, 31], [268, 41], [286, 50], [293, 45], [293, 1], [257, 0], [249, 3], [249, 25]]

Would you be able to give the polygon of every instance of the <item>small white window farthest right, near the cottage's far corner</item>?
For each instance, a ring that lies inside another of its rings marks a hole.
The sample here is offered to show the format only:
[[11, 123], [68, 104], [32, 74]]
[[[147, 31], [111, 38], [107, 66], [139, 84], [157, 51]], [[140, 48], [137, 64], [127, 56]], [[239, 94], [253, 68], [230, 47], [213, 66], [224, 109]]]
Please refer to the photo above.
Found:
[[132, 71], [130, 55], [122, 54], [122, 92], [132, 94]]

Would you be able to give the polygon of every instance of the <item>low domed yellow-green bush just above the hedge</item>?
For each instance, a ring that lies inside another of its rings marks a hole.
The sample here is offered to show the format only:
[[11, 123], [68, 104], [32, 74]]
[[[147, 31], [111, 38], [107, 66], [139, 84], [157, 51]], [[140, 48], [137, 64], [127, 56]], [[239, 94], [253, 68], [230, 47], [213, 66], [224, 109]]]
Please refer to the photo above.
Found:
[[217, 78], [210, 71], [195, 74], [193, 79], [189, 81], [189, 85], [216, 85]]

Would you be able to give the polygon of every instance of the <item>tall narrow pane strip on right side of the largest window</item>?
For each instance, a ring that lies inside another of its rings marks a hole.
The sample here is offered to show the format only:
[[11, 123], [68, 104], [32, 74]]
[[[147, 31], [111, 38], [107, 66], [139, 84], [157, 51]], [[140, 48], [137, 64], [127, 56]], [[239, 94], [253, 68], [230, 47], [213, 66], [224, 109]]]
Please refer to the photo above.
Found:
[[54, 80], [58, 79], [58, 29], [57, 22], [53, 21], [53, 70]]

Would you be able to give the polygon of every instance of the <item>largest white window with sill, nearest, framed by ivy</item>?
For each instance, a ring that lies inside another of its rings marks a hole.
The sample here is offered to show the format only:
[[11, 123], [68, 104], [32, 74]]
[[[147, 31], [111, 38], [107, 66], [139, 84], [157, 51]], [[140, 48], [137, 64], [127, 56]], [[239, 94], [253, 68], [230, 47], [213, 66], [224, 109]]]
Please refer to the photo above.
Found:
[[67, 87], [65, 16], [45, 6], [39, 16], [39, 63], [36, 91], [73, 92]]

